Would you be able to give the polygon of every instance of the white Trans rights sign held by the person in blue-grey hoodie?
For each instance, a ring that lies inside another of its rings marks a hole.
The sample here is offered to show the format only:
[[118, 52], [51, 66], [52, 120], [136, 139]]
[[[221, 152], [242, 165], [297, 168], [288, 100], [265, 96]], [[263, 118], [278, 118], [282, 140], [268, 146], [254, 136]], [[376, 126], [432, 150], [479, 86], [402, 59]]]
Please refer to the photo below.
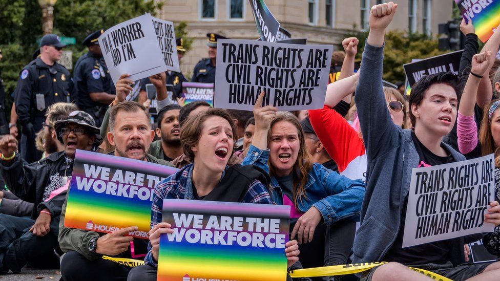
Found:
[[403, 248], [480, 232], [495, 225], [484, 215], [494, 201], [493, 154], [444, 165], [413, 168]]

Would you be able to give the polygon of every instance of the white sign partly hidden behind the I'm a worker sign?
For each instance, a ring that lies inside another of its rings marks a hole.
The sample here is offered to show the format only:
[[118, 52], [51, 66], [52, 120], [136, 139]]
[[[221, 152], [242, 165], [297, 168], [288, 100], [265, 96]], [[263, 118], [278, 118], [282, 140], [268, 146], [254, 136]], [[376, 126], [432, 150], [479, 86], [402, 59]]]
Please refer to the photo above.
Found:
[[174, 23], [159, 18], [153, 18], [156, 37], [160, 45], [161, 54], [165, 61], [166, 69], [180, 72], [177, 57], [177, 44], [175, 42]]

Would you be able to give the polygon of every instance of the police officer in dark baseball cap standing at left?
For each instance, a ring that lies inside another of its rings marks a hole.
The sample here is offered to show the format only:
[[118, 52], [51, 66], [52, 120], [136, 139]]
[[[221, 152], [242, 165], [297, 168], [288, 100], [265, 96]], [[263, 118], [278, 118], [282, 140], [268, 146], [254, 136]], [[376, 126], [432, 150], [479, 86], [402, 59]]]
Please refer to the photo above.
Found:
[[18, 121], [23, 125], [21, 155], [28, 162], [38, 161], [41, 152], [35, 147], [35, 135], [45, 121], [47, 107], [56, 102], [75, 101], [70, 72], [57, 61], [63, 44], [59, 36], [47, 34], [40, 40], [40, 56], [19, 74], [15, 93]]

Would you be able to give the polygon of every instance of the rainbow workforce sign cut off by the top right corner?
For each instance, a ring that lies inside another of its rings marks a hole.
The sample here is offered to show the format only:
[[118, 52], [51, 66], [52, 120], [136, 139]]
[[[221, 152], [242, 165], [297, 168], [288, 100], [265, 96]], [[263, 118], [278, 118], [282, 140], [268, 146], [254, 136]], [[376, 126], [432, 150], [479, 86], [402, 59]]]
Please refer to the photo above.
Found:
[[472, 20], [475, 33], [486, 42], [493, 35], [493, 29], [500, 24], [500, 0], [455, 0], [466, 23]]

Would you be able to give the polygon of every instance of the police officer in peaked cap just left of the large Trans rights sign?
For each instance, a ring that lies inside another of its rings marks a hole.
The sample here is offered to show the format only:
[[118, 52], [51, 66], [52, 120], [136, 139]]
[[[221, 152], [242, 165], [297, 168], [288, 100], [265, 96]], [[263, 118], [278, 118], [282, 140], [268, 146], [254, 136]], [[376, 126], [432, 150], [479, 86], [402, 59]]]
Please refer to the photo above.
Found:
[[207, 33], [209, 41], [206, 46], [209, 46], [209, 57], [200, 60], [193, 70], [192, 82], [215, 83], [215, 63], [217, 59], [217, 40], [228, 39], [217, 33]]

